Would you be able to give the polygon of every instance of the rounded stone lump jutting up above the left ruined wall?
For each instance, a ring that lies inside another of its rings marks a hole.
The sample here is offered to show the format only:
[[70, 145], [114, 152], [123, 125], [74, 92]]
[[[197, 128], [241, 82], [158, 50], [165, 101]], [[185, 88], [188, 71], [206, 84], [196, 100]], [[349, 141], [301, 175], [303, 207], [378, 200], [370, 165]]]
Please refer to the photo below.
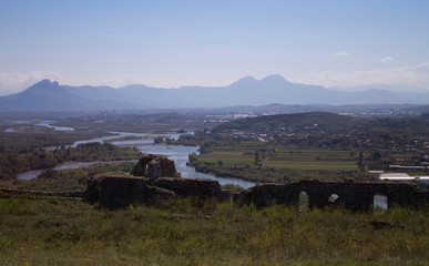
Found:
[[176, 171], [174, 162], [162, 155], [145, 154], [143, 155], [134, 168], [132, 174], [135, 176], [146, 176], [151, 180], [157, 177], [180, 177], [181, 174]]

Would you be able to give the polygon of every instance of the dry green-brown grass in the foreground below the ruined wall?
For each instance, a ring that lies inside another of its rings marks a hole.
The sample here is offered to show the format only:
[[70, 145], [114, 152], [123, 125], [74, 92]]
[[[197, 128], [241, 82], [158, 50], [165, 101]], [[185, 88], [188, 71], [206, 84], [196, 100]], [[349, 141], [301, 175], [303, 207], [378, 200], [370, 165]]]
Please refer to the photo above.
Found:
[[112, 212], [2, 194], [0, 265], [428, 265], [428, 214], [192, 200]]

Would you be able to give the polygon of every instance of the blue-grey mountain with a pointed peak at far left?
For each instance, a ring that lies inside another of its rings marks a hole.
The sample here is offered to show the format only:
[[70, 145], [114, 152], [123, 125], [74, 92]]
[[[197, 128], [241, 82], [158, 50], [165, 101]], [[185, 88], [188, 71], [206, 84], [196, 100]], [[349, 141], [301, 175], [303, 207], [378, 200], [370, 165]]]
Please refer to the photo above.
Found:
[[89, 111], [101, 106], [49, 80], [42, 80], [20, 93], [0, 98], [1, 111]]

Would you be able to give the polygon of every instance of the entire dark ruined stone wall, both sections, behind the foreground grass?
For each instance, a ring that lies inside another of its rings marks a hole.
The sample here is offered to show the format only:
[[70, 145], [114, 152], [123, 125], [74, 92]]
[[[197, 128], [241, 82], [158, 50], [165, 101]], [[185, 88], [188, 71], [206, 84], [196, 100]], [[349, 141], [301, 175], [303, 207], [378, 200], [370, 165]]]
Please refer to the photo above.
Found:
[[[300, 194], [308, 196], [308, 207], [344, 206], [353, 211], [369, 211], [375, 195], [387, 197], [389, 206], [415, 207], [429, 203], [429, 191], [420, 191], [410, 183], [390, 182], [319, 182], [300, 181], [283, 184], [263, 184], [239, 194], [223, 191], [216, 181], [181, 178], [174, 162], [159, 155], [144, 155], [132, 174], [106, 173], [88, 182], [84, 200], [100, 202], [110, 209], [124, 208], [134, 203], [154, 202], [165, 197], [197, 197], [229, 201], [237, 204], [299, 205]], [[334, 201], [333, 200], [333, 196]]]

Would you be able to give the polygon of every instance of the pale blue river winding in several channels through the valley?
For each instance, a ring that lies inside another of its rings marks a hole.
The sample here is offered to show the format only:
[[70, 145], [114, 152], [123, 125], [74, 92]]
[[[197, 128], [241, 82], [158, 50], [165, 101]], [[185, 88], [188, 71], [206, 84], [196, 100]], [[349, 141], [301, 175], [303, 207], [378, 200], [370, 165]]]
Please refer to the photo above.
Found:
[[[39, 126], [48, 126], [52, 127], [54, 131], [74, 131], [73, 127], [69, 126], [54, 126], [51, 125], [54, 120], [44, 120], [39, 122], [37, 125]], [[221, 185], [225, 184], [235, 184], [241, 185], [244, 188], [252, 187], [256, 185], [254, 182], [243, 181], [238, 178], [227, 178], [227, 177], [217, 177], [215, 175], [211, 174], [203, 174], [197, 171], [195, 171], [194, 167], [186, 166], [186, 163], [188, 162], [188, 155], [192, 153], [198, 153], [197, 146], [183, 146], [183, 145], [166, 145], [166, 144], [155, 144], [154, 137], [156, 136], [166, 136], [174, 140], [177, 140], [181, 134], [178, 133], [166, 133], [166, 134], [152, 134], [152, 133], [133, 133], [133, 132], [110, 132], [111, 135], [102, 136], [102, 137], [95, 137], [91, 140], [84, 140], [84, 141], [76, 141], [72, 145], [72, 147], [78, 146], [79, 144], [83, 143], [91, 143], [91, 142], [104, 142], [110, 141], [114, 139], [120, 137], [143, 137], [139, 140], [122, 140], [122, 141], [113, 141], [111, 142], [114, 145], [126, 145], [126, 146], [135, 146], [141, 151], [142, 153], [151, 153], [151, 154], [160, 154], [165, 155], [170, 160], [174, 161], [174, 164], [177, 168], [177, 172], [181, 173], [182, 177], [188, 177], [188, 178], [208, 178], [217, 181]], [[193, 132], [187, 132], [188, 134], [193, 134]], [[85, 167], [90, 166], [92, 164], [102, 163], [102, 162], [91, 162], [91, 163], [69, 163], [69, 164], [62, 164], [54, 167], [54, 170], [64, 170], [64, 168], [78, 168], [78, 167]], [[18, 176], [18, 180], [31, 180], [35, 177], [38, 174], [40, 174], [42, 171], [30, 171], [22, 173]]]

